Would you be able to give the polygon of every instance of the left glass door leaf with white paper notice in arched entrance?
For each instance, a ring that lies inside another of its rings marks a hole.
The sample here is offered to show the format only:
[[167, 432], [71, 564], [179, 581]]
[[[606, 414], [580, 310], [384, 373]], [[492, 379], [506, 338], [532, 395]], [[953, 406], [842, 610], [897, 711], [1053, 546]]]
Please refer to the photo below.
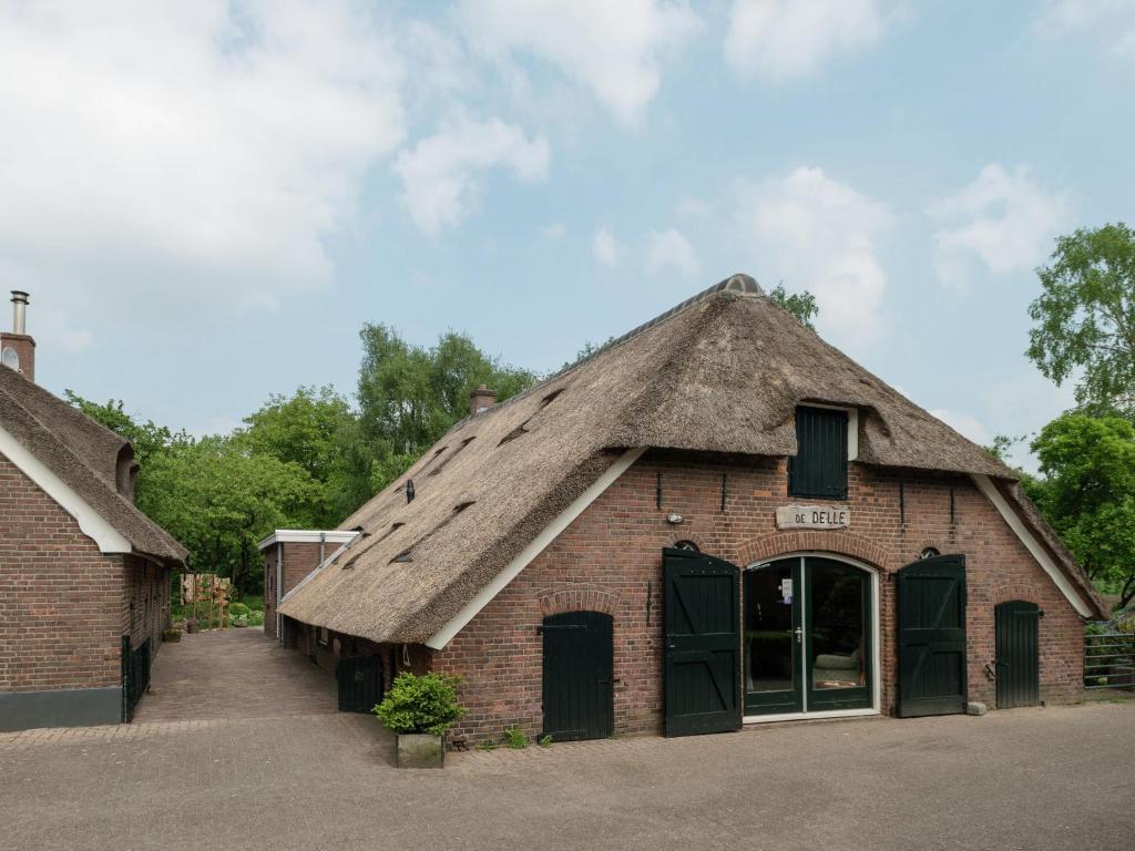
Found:
[[745, 714], [804, 711], [802, 559], [745, 572]]

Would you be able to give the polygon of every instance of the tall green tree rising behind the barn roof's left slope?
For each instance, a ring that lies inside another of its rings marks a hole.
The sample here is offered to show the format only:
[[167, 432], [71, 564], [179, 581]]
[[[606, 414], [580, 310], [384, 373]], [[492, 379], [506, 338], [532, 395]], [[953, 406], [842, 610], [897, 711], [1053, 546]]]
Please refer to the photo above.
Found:
[[360, 337], [359, 445], [370, 457], [370, 492], [386, 487], [468, 416], [469, 395], [478, 385], [488, 385], [503, 401], [537, 378], [489, 357], [454, 331], [430, 348], [406, 343], [384, 325], [364, 325]]

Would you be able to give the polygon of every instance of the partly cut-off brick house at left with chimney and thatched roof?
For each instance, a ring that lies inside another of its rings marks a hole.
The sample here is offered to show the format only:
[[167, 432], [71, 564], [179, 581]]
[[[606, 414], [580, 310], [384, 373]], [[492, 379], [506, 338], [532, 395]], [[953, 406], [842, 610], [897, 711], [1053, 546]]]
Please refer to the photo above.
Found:
[[34, 384], [0, 335], [0, 731], [128, 719], [169, 621], [177, 541], [134, 507], [118, 435]]

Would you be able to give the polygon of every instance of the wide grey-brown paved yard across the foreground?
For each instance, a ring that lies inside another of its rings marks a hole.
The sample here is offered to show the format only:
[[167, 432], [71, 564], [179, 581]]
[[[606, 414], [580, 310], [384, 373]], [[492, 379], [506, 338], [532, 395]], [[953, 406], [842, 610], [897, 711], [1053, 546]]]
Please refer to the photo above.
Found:
[[0, 735], [0, 849], [1092, 849], [1135, 836], [1135, 702], [451, 755], [369, 716]]

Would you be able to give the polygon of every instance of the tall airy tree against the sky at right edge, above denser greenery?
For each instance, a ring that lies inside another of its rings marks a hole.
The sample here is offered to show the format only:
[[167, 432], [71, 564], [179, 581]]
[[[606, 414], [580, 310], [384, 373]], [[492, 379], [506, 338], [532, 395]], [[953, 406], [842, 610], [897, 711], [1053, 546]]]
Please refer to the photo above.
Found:
[[1083, 408], [1135, 418], [1135, 231], [1120, 222], [1062, 236], [1037, 275], [1029, 359], [1058, 385], [1081, 372]]

